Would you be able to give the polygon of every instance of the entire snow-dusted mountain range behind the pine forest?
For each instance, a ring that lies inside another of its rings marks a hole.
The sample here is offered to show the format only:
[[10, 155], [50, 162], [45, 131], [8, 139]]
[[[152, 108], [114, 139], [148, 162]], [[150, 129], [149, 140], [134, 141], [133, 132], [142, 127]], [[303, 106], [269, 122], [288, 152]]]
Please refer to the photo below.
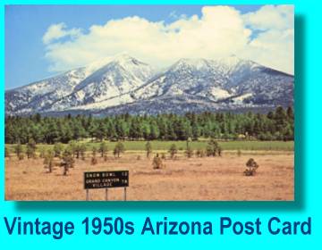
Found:
[[236, 56], [181, 59], [154, 73], [148, 64], [123, 54], [96, 71], [86, 69], [7, 91], [6, 113], [156, 114], [268, 110], [293, 104], [293, 76]]

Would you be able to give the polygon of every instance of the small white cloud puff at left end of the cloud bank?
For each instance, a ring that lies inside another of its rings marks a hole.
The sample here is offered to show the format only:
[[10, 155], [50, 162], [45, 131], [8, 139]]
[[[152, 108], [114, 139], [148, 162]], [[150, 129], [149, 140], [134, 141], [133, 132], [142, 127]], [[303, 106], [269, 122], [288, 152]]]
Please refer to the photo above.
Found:
[[48, 27], [42, 40], [44, 44], [49, 44], [62, 37], [78, 37], [80, 36], [80, 29], [66, 30], [64, 22], [52, 24]]

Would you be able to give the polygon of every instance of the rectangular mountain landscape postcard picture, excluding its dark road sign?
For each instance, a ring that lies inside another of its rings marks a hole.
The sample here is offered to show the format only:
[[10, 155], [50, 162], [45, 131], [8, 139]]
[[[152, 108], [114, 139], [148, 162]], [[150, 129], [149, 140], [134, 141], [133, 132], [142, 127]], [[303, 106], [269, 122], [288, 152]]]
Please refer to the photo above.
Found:
[[7, 5], [5, 199], [104, 200], [84, 173], [129, 171], [128, 200], [293, 200], [293, 22], [293, 5]]

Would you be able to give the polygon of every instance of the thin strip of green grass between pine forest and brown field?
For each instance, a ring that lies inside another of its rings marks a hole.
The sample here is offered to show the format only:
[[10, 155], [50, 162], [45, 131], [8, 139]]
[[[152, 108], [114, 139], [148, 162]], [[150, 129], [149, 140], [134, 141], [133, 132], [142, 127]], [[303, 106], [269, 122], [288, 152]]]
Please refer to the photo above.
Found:
[[[91, 150], [93, 146], [98, 147], [100, 142], [89, 142], [86, 143], [88, 150]], [[113, 150], [116, 142], [106, 141], [108, 150]], [[145, 150], [146, 141], [123, 141], [125, 149], [128, 151], [142, 151]], [[186, 141], [151, 141], [153, 150], [165, 151], [169, 147], [175, 144], [178, 150], [185, 150]], [[205, 149], [208, 144], [207, 140], [192, 141], [190, 146], [192, 149]], [[293, 151], [293, 141], [219, 141], [219, 145], [223, 150], [251, 150], [251, 151]], [[9, 148], [10, 152], [13, 153], [14, 145], [5, 145]], [[47, 148], [53, 147], [52, 145], [38, 145], [38, 148], [45, 146]]]

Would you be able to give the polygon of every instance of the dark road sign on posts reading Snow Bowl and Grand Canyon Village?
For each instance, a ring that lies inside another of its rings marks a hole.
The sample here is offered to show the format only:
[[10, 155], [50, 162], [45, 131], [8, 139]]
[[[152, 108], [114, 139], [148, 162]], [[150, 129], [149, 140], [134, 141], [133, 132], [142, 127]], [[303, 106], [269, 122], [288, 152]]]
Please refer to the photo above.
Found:
[[89, 189], [105, 188], [106, 201], [108, 188], [124, 187], [124, 201], [126, 201], [126, 187], [129, 187], [129, 171], [90, 171], [84, 172], [84, 188], [86, 200], [89, 200]]

